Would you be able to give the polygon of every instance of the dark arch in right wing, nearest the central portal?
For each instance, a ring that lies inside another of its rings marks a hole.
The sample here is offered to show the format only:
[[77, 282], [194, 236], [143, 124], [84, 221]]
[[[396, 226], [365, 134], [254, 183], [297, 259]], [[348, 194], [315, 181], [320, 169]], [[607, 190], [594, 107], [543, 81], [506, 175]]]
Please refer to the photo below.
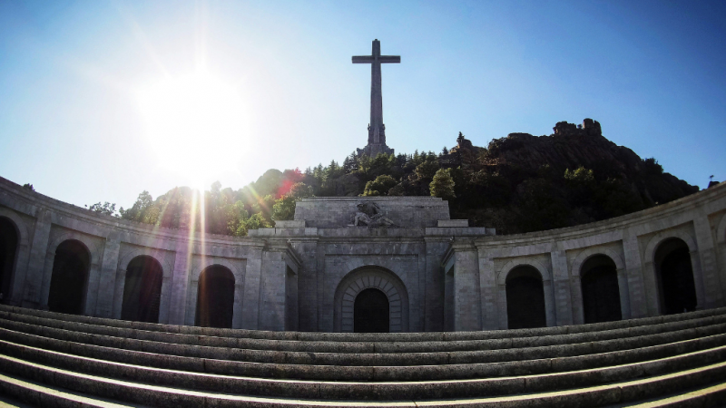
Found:
[[534, 267], [515, 267], [506, 276], [506, 317], [510, 329], [547, 325], [542, 277]]

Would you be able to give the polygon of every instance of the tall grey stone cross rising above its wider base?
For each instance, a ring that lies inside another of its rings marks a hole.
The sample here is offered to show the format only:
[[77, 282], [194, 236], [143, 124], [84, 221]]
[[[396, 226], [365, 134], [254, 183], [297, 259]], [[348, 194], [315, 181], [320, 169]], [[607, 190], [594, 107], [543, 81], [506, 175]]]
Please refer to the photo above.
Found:
[[373, 52], [371, 55], [353, 57], [353, 63], [370, 63], [370, 123], [368, 124], [369, 146], [386, 146], [386, 127], [383, 125], [383, 98], [380, 91], [380, 64], [400, 62], [400, 55], [381, 55], [380, 42], [378, 40], [373, 40]]

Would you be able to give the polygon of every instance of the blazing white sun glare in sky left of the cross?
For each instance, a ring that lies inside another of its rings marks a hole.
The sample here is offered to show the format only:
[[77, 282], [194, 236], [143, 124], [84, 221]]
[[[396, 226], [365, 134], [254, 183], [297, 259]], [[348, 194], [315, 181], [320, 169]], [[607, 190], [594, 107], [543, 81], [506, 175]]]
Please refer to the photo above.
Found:
[[138, 99], [159, 164], [192, 184], [236, 170], [250, 151], [244, 101], [237, 89], [208, 73], [155, 83]]

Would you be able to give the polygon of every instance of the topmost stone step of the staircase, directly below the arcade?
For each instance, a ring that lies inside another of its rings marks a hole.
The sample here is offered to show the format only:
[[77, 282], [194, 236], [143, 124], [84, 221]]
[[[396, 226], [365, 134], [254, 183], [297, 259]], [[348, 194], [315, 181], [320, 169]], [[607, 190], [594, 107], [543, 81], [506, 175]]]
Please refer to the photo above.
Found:
[[43, 310], [28, 309], [19, 306], [0, 305], [0, 311], [12, 312], [26, 316], [52, 318], [65, 322], [103, 325], [116, 328], [138, 329], [146, 332], [165, 332], [172, 334], [232, 337], [259, 340], [288, 340], [299, 342], [343, 342], [343, 343], [378, 343], [395, 342], [452, 342], [467, 340], [495, 340], [510, 337], [541, 337], [554, 335], [572, 335], [577, 333], [610, 331], [638, 326], [657, 325], [663, 323], [691, 320], [694, 318], [726, 314], [726, 307], [699, 310], [678, 315], [653, 316], [615, 322], [595, 323], [588, 325], [561, 325], [533, 329], [490, 330], [476, 332], [436, 332], [436, 333], [316, 333], [316, 332], [270, 332], [262, 330], [221, 329], [213, 327], [197, 327], [189, 325], [160, 325], [154, 323], [131, 322], [126, 320], [65, 315]]

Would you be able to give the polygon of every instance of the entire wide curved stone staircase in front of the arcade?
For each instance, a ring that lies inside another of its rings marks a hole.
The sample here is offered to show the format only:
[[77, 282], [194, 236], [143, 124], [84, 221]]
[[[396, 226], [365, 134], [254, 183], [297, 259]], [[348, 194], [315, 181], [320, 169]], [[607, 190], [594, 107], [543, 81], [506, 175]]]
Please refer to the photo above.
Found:
[[594, 325], [332, 334], [0, 306], [0, 401], [30, 406], [723, 406], [726, 308]]

